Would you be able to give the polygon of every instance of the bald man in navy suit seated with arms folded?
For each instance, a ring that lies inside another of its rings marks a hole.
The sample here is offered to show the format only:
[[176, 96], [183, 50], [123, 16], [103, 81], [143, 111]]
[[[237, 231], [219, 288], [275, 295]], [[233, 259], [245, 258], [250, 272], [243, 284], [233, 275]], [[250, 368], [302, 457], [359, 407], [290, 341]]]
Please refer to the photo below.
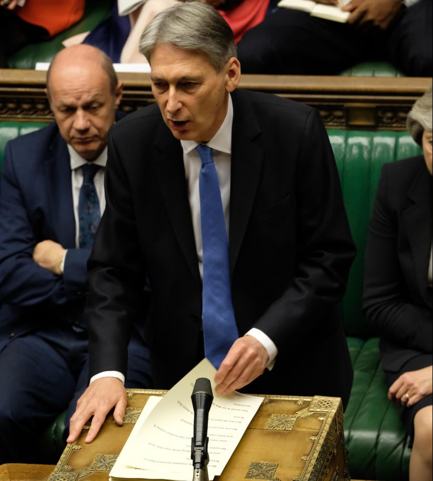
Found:
[[[70, 417], [87, 385], [86, 262], [98, 219], [86, 214], [105, 206], [122, 84], [105, 54], [77, 46], [53, 61], [47, 93], [56, 121], [7, 144], [0, 192], [0, 463], [44, 461], [33, 457], [34, 433], [68, 404]], [[87, 167], [94, 205], [82, 198]], [[125, 374], [149, 386], [147, 349], [132, 339]]]

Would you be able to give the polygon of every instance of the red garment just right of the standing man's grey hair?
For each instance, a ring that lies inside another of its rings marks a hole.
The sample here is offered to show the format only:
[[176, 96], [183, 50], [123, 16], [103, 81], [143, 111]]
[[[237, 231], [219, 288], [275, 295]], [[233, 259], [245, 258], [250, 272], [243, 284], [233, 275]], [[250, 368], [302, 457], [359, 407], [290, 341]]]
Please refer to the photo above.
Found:
[[233, 30], [234, 40], [238, 43], [244, 33], [263, 21], [269, 0], [244, 0], [228, 12], [218, 10]]

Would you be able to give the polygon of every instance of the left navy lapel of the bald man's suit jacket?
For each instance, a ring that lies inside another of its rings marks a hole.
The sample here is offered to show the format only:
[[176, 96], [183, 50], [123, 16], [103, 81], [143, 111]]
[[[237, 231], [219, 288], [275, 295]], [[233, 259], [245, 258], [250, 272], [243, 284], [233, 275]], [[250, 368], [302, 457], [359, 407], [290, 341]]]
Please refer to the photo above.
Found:
[[75, 217], [72, 200], [71, 164], [66, 142], [60, 133], [57, 133], [54, 137], [44, 164], [54, 233], [63, 247], [74, 248]]

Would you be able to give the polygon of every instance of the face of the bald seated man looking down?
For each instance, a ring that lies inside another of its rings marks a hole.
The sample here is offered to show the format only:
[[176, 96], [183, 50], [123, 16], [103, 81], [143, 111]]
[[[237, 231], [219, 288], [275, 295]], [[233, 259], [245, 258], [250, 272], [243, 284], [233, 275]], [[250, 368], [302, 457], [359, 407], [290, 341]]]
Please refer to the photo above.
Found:
[[99, 65], [53, 69], [50, 105], [62, 137], [87, 161], [94, 161], [107, 145], [121, 99], [121, 85], [110, 91], [108, 75]]

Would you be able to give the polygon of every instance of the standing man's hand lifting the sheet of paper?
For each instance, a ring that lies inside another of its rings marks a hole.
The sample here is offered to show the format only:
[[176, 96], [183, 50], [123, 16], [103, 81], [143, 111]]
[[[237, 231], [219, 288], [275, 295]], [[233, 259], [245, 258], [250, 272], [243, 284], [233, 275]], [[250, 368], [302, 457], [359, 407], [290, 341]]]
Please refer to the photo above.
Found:
[[252, 336], [237, 339], [215, 375], [217, 394], [229, 394], [263, 374], [269, 356]]

